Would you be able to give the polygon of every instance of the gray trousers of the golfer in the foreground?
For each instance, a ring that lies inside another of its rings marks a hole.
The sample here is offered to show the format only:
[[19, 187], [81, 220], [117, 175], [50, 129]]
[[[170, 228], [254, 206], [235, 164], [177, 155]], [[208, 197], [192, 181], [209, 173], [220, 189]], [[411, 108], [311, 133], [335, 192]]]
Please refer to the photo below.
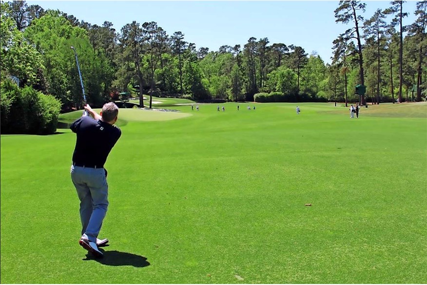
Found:
[[108, 208], [108, 184], [104, 168], [71, 165], [71, 180], [80, 200], [81, 235], [96, 243]]

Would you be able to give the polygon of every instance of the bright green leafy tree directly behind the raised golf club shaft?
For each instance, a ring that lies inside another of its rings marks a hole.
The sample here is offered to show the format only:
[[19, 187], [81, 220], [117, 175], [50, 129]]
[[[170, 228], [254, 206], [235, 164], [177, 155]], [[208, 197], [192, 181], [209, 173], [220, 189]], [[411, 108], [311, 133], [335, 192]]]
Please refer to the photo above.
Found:
[[32, 21], [24, 31], [27, 39], [40, 53], [46, 92], [60, 99], [64, 109], [80, 107], [83, 101], [74, 53], [78, 52], [80, 70], [91, 104], [101, 104], [101, 63], [95, 57], [87, 31], [74, 27], [59, 11], [48, 10], [46, 15]]

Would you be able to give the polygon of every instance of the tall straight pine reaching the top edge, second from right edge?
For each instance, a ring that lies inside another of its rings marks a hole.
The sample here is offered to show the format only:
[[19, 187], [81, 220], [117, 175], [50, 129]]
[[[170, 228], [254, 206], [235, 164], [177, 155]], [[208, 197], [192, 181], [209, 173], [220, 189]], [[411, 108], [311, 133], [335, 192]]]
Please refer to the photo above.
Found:
[[391, 1], [392, 5], [390, 8], [384, 10], [384, 14], [395, 14], [395, 18], [391, 20], [391, 25], [396, 26], [399, 23], [400, 26], [400, 42], [399, 42], [399, 102], [402, 102], [402, 83], [403, 83], [403, 32], [406, 27], [402, 25], [403, 17], [408, 16], [408, 13], [402, 13], [403, 3], [406, 1]]

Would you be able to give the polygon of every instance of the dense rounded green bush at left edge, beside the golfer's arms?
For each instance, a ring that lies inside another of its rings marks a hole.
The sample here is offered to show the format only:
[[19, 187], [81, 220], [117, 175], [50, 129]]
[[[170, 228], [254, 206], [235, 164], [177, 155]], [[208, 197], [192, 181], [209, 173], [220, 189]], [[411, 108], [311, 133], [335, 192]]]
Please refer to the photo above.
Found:
[[1, 132], [4, 134], [53, 134], [57, 130], [61, 104], [30, 86], [20, 89], [1, 81]]

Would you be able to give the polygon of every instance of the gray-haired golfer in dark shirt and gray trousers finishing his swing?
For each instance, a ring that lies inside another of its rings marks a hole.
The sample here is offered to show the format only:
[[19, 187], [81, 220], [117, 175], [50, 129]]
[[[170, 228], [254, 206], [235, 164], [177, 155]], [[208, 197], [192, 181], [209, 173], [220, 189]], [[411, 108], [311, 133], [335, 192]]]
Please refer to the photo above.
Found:
[[80, 200], [82, 236], [79, 244], [95, 257], [102, 257], [98, 246], [108, 243], [107, 239], [97, 238], [108, 207], [107, 170], [104, 164], [120, 138], [121, 130], [114, 126], [118, 115], [115, 103], [104, 104], [100, 115], [89, 105], [84, 108], [93, 118], [83, 115], [70, 126], [77, 134], [71, 180]]

